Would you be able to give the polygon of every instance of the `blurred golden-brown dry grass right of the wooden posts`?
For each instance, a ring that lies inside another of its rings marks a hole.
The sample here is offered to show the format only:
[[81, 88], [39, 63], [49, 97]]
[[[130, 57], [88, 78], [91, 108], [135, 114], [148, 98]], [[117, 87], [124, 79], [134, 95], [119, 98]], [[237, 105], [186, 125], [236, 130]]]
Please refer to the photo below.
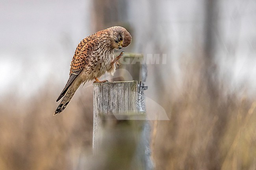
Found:
[[228, 93], [224, 80], [216, 80], [210, 95], [204, 65], [198, 63], [183, 65], [182, 90], [163, 99], [171, 120], [154, 126], [156, 169], [255, 170], [256, 100]]

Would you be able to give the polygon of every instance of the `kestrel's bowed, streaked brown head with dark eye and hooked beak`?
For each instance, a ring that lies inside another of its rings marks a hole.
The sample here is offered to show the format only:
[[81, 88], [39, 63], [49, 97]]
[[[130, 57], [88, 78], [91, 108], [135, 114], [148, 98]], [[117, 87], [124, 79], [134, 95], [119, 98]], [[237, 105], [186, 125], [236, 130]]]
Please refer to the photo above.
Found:
[[132, 36], [124, 27], [114, 26], [108, 29], [110, 31], [113, 48], [121, 49], [127, 47], [131, 43]]

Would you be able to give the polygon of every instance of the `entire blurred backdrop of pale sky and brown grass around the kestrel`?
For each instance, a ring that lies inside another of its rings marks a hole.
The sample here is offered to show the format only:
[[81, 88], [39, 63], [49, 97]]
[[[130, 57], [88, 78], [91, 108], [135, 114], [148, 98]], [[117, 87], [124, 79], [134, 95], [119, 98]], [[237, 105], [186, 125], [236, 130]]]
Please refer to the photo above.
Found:
[[255, 0], [0, 4], [1, 170], [86, 169], [92, 82], [52, 115], [78, 43], [115, 25], [133, 37], [126, 53], [160, 56], [145, 91], [170, 119], [150, 121], [155, 169], [256, 169]]

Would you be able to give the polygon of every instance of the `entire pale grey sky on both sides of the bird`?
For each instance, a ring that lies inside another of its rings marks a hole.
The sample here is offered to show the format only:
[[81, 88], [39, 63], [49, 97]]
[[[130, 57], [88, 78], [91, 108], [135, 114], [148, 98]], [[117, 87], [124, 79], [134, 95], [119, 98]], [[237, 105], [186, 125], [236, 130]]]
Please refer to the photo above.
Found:
[[[129, 1], [128, 20], [135, 30], [134, 52], [154, 53], [150, 50], [157, 40], [160, 47], [171, 43], [172, 49], [163, 50], [171, 58], [167, 64], [175, 68], [174, 58], [184, 51], [189, 54], [195, 47], [195, 38], [203, 41], [202, 2]], [[17, 87], [20, 93], [30, 94], [50, 79], [64, 84], [77, 44], [93, 33], [91, 6], [90, 0], [2, 0], [0, 94]], [[223, 72], [230, 71], [235, 84], [246, 79], [253, 88], [256, 85], [256, 2], [223, 1], [219, 10], [216, 59]], [[155, 34], [151, 29], [155, 29]], [[154, 42], [150, 45], [151, 39]], [[138, 40], [147, 41], [148, 45], [140, 50]], [[230, 53], [230, 46], [236, 48], [235, 53]], [[64, 67], [67, 69], [63, 71]]]

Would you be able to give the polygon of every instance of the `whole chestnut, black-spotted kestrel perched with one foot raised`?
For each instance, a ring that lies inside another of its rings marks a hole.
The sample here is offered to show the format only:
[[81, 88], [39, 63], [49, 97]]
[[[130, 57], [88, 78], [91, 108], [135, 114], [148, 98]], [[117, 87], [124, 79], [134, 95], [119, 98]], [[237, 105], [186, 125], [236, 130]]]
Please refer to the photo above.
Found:
[[98, 78], [106, 72], [115, 73], [115, 63], [119, 66], [119, 59], [124, 51], [115, 58], [114, 49], [127, 47], [132, 41], [132, 36], [124, 28], [113, 26], [84, 38], [77, 46], [74, 57], [70, 64], [69, 80], [56, 102], [61, 102], [54, 115], [61, 113], [69, 104], [78, 87], [85, 82], [94, 80], [94, 83], [108, 82], [100, 81]]

